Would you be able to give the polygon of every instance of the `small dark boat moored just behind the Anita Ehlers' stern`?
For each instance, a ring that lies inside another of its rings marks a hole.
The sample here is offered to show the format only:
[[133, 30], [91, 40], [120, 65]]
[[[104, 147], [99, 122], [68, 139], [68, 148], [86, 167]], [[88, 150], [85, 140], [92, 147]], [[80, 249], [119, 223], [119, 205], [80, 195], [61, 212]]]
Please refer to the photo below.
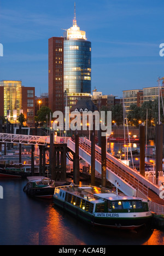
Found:
[[51, 199], [55, 191], [55, 182], [46, 177], [27, 177], [28, 183], [24, 192], [31, 197], [42, 197]]

